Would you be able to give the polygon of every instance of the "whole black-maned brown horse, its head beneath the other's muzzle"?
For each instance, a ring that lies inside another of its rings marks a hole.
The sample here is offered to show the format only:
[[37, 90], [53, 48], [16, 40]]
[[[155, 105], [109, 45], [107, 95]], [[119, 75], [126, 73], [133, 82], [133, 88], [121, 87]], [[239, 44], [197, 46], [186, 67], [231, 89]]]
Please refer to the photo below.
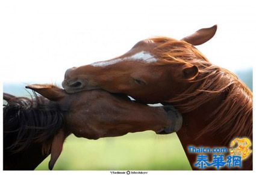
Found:
[[67, 94], [52, 85], [30, 85], [43, 96], [4, 93], [4, 170], [34, 170], [50, 153], [49, 169], [60, 156], [65, 138], [98, 139], [152, 130], [169, 134], [181, 128], [173, 107], [149, 107], [104, 90]]

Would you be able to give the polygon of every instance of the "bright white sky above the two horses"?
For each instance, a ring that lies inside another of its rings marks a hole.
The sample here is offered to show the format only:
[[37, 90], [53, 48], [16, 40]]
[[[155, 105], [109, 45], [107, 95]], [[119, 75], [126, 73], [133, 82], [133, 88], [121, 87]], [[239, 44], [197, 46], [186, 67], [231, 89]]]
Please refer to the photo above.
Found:
[[[232, 3], [231, 3], [232, 2]], [[138, 41], [218, 25], [197, 48], [234, 71], [255, 63], [254, 1], [5, 1], [2, 82], [61, 82], [67, 68], [122, 55]]]

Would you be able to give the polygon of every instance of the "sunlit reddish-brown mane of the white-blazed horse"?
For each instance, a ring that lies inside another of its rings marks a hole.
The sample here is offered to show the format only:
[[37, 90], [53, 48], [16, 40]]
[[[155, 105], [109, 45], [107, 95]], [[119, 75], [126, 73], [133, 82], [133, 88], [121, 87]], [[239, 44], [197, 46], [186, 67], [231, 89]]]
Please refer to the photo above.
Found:
[[[167, 64], [196, 65], [199, 74], [196, 79], [188, 80], [190, 87], [185, 92], [169, 99], [181, 113], [188, 113], [202, 104], [224, 95], [208, 119], [211, 122], [203, 129], [201, 137], [207, 132], [228, 131], [224, 140], [231, 137], [248, 136], [252, 138], [252, 92], [238, 77], [224, 68], [211, 64], [198, 49], [186, 41], [158, 37], [150, 40], [159, 43], [153, 54], [164, 59]], [[220, 122], [221, 121], [221, 122]]]

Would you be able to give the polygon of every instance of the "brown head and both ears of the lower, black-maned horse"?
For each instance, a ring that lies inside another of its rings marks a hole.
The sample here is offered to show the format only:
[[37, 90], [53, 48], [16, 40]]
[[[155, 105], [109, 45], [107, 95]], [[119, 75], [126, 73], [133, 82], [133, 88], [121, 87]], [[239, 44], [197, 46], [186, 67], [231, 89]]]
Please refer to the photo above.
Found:
[[26, 88], [45, 96], [63, 111], [64, 127], [54, 136], [51, 144], [50, 170], [70, 133], [89, 139], [147, 130], [169, 134], [178, 131], [182, 125], [180, 113], [170, 105], [150, 107], [133, 102], [127, 96], [113, 95], [104, 90], [68, 94], [53, 85], [30, 85]]

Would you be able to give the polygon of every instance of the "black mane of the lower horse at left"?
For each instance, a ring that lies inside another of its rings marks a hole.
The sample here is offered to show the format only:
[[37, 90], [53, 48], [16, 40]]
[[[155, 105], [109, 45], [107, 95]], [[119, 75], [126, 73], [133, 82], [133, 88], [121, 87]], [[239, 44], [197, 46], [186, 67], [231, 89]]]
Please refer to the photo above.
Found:
[[[49, 152], [52, 139], [63, 126], [63, 111], [34, 92], [34, 98], [11, 98], [4, 105], [4, 149], [17, 153], [33, 143], [42, 144], [43, 153]], [[11, 140], [10, 140], [11, 139]]]

